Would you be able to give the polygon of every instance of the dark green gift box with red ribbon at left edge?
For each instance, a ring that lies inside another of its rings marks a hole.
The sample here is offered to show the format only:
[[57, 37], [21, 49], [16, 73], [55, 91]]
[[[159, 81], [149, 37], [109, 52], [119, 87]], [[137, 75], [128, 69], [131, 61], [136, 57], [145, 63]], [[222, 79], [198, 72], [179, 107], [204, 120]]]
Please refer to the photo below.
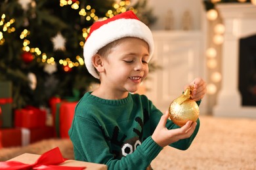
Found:
[[0, 82], [0, 127], [12, 127], [12, 82]]

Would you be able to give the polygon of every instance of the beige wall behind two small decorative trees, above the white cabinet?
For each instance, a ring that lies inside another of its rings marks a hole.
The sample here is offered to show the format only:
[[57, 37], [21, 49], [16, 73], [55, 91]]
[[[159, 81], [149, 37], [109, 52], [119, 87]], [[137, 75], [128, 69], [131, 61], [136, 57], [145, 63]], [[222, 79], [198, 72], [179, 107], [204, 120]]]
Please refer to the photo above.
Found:
[[203, 0], [148, 0], [148, 5], [158, 17], [157, 22], [150, 27], [152, 30], [164, 29], [168, 10], [173, 11], [174, 29], [181, 29], [182, 15], [185, 10], [189, 10], [192, 16], [192, 29], [201, 29]]

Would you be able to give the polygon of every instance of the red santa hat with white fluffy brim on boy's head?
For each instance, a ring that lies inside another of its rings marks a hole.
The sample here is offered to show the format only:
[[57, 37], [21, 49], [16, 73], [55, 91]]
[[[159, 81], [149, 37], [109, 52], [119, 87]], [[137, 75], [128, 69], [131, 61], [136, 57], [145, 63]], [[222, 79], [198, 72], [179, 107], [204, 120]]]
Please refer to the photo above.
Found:
[[83, 56], [85, 66], [91, 75], [99, 78], [98, 73], [92, 63], [93, 56], [110, 42], [116, 41], [123, 37], [137, 37], [148, 43], [150, 57], [154, 51], [154, 41], [152, 33], [147, 25], [140, 22], [139, 18], [131, 11], [127, 11], [108, 20], [95, 22], [90, 29], [90, 33], [83, 47]]

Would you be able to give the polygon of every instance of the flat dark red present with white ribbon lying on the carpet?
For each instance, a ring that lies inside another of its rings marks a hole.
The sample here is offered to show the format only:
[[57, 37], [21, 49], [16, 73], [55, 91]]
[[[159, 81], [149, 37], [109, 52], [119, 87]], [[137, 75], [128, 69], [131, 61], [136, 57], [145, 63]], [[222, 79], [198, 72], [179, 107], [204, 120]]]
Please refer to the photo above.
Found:
[[0, 148], [26, 146], [53, 137], [53, 126], [37, 127], [33, 129], [24, 127], [0, 129]]

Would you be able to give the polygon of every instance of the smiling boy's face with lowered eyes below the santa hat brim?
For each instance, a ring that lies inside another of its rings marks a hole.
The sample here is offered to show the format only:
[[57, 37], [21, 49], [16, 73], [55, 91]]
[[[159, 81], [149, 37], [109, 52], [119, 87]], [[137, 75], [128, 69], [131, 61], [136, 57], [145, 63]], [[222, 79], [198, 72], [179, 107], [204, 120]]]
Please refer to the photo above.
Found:
[[105, 73], [101, 84], [113, 92], [136, 92], [148, 75], [148, 58], [145, 41], [131, 37], [123, 39], [102, 59]]

